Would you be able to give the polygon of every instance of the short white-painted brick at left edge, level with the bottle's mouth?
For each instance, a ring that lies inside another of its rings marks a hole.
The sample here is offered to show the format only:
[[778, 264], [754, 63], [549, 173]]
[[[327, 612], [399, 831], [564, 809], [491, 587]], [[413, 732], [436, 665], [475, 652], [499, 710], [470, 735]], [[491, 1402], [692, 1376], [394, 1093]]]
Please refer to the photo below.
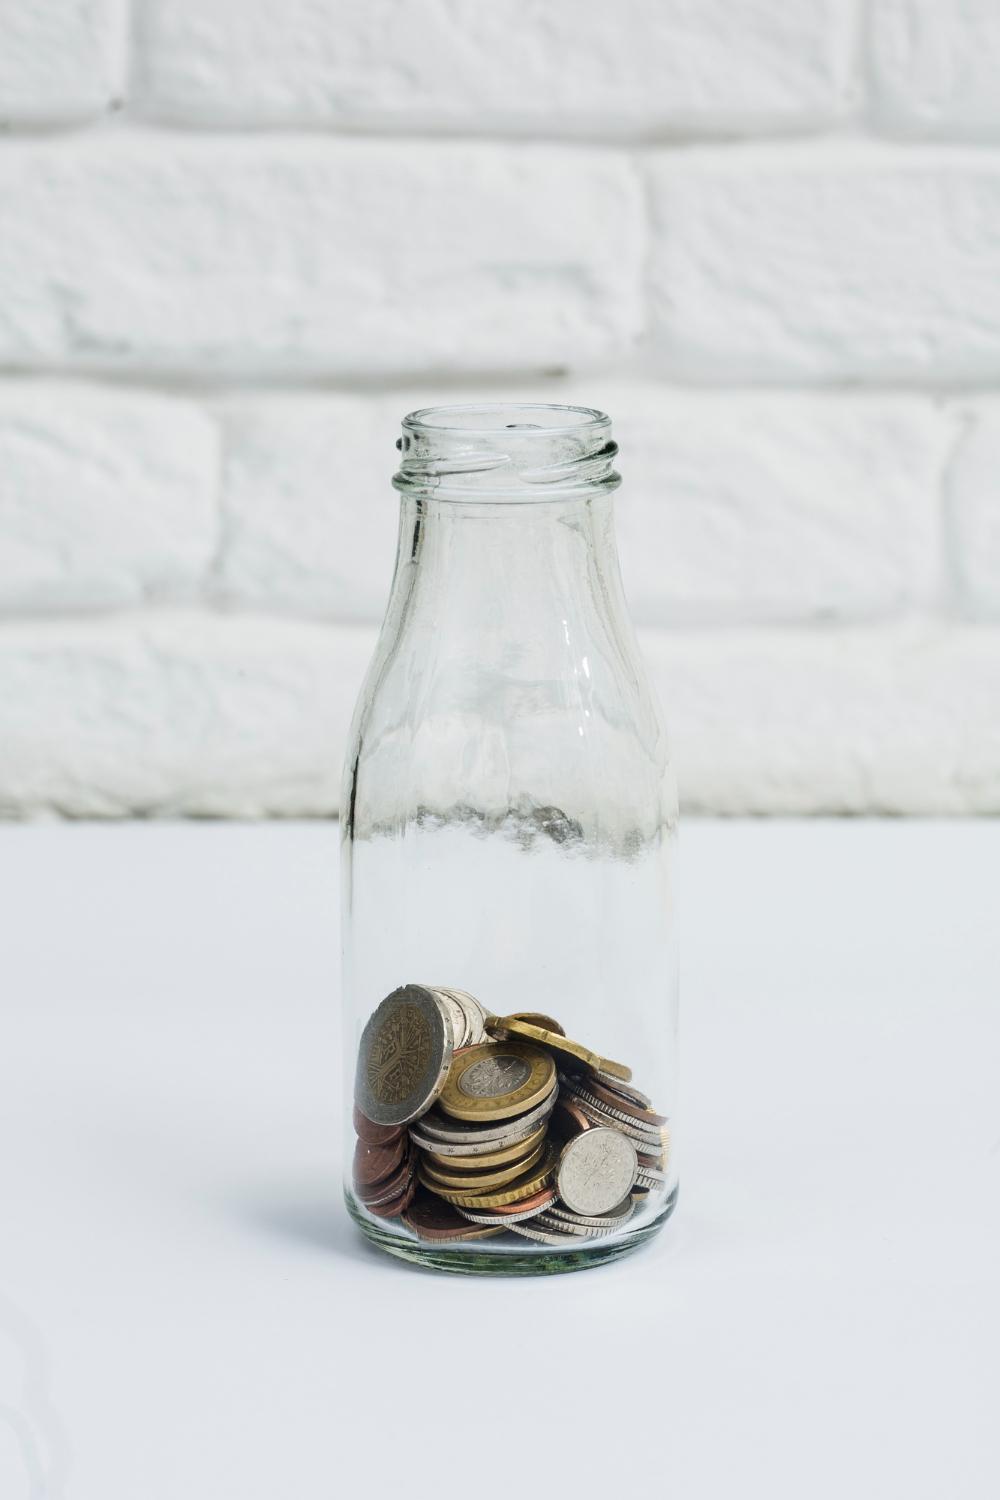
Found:
[[169, 398], [0, 386], [0, 609], [190, 597], [217, 540], [214, 424]]

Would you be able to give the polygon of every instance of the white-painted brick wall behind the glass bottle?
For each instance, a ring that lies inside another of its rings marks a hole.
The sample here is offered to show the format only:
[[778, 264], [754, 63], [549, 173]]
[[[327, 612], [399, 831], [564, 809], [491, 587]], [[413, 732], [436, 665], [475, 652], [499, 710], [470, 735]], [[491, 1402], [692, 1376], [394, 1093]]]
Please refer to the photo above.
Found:
[[399, 417], [606, 406], [685, 806], [1000, 812], [988, 0], [0, 0], [0, 814], [336, 810]]

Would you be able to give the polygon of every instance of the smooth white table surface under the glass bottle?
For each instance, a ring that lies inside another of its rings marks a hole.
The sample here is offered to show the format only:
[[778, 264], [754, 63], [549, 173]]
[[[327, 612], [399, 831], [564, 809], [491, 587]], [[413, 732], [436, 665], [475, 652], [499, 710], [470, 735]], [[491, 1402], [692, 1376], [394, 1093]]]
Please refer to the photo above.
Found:
[[0, 830], [0, 1496], [1000, 1492], [1000, 825], [682, 838], [682, 1191], [547, 1280], [339, 1188], [331, 825]]

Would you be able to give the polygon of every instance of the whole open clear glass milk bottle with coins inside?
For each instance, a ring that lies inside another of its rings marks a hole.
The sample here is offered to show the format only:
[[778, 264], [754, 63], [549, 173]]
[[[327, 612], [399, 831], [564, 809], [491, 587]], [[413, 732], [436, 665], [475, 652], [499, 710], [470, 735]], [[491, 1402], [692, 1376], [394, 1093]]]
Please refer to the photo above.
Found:
[[342, 802], [346, 1202], [450, 1270], [574, 1270], [676, 1200], [676, 795], [583, 406], [412, 412]]

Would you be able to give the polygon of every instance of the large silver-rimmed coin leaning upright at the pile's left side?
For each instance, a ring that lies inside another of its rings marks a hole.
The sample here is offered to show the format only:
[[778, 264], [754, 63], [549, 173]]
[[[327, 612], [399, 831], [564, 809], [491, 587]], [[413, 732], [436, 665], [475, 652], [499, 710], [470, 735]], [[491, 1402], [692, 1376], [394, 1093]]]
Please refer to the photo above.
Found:
[[376, 1125], [405, 1125], [430, 1108], [451, 1065], [448, 1014], [432, 990], [405, 984], [369, 1017], [361, 1034], [355, 1102]]

